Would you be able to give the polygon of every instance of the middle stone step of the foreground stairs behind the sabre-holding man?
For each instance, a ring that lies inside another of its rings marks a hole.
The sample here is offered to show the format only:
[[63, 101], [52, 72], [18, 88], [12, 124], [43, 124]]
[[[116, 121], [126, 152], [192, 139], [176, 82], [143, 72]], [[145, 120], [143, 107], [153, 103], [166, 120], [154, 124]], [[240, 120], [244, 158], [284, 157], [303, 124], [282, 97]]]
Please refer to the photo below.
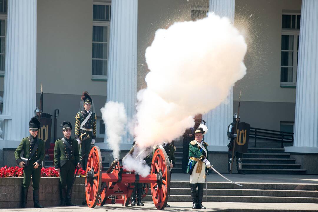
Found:
[[[280, 197], [318, 197], [318, 191], [274, 190], [274, 189], [219, 189], [208, 188], [208, 195], [222, 196], [280, 196]], [[170, 188], [170, 195], [189, 195], [190, 188]], [[204, 188], [205, 192], [205, 188]]]

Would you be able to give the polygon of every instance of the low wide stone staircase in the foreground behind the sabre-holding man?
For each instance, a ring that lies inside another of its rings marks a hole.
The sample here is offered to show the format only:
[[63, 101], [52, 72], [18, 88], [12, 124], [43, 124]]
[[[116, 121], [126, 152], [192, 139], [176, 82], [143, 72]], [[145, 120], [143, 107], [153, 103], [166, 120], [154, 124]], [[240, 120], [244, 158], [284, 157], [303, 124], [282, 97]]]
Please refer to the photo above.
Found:
[[[171, 181], [169, 202], [191, 202], [189, 182]], [[209, 202], [318, 203], [318, 184], [208, 182]], [[205, 202], [205, 186], [204, 198]], [[144, 201], [152, 201], [151, 193]], [[190, 204], [190, 203], [189, 203]]]

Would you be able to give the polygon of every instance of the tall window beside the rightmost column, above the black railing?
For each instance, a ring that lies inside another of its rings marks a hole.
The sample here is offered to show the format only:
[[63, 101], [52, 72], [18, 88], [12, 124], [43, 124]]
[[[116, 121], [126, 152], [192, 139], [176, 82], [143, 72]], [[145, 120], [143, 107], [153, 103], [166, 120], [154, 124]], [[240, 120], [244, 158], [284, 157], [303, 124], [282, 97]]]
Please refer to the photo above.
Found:
[[298, 68], [300, 14], [282, 16], [280, 86], [295, 87]]

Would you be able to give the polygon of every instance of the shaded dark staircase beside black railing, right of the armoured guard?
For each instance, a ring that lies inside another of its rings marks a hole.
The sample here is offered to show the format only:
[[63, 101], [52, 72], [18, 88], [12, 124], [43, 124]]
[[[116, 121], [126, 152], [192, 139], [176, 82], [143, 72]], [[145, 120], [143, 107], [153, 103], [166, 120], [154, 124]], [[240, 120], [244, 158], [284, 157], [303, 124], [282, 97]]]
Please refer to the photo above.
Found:
[[249, 147], [243, 155], [246, 174], [306, 174], [284, 148]]

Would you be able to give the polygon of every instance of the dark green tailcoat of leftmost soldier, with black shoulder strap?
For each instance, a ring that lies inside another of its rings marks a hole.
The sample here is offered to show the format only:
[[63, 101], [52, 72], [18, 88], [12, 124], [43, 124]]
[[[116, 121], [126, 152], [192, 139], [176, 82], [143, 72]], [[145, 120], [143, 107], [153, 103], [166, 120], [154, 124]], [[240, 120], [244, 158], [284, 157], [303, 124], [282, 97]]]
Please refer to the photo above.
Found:
[[[45, 157], [45, 143], [44, 140], [42, 139], [37, 139], [38, 141], [38, 147], [35, 153], [33, 154], [31, 161], [38, 162], [39, 165], [41, 165], [42, 161], [44, 160]], [[23, 157], [24, 158], [29, 158], [30, 154], [32, 152], [31, 149], [31, 143], [30, 143], [30, 136], [25, 137], [22, 139], [21, 143], [17, 147], [16, 151], [14, 152], [14, 156], [16, 158], [17, 164], [19, 164], [22, 160], [20, 157], [20, 154], [23, 150]], [[29, 166], [33, 166], [33, 163], [30, 164]]]

